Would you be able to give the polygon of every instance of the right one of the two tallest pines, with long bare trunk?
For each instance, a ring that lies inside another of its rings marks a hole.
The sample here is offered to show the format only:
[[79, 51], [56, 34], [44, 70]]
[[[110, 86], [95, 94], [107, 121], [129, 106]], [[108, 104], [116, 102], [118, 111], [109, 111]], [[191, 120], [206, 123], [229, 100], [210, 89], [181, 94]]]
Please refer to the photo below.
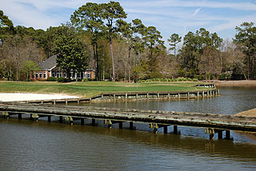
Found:
[[104, 30], [108, 33], [108, 40], [110, 43], [110, 55], [112, 61], [112, 77], [113, 82], [115, 82], [115, 72], [114, 72], [114, 54], [112, 47], [112, 37], [115, 32], [118, 31], [118, 28], [115, 26], [115, 23], [118, 19], [126, 18], [127, 14], [123, 10], [119, 2], [110, 1], [109, 3], [102, 4], [102, 18], [105, 20]]

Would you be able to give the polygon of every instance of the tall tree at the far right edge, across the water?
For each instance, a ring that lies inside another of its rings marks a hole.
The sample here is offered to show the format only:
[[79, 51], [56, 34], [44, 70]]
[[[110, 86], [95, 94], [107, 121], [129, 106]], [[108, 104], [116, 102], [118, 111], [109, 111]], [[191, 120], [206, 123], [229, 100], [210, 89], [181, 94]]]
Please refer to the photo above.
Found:
[[256, 56], [256, 27], [254, 22], [243, 22], [240, 27], [236, 27], [238, 33], [235, 35], [234, 42], [238, 44], [244, 54], [246, 54], [246, 66], [248, 78], [253, 79], [256, 75], [255, 56]]

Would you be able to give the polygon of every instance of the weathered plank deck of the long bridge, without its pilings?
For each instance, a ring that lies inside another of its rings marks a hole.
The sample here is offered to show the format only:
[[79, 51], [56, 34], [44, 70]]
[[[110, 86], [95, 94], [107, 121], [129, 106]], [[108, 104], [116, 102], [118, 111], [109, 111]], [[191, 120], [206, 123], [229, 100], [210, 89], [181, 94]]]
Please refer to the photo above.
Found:
[[38, 113], [51, 116], [140, 121], [166, 125], [188, 125], [256, 132], [256, 117], [240, 117], [210, 113], [185, 113], [159, 110], [99, 108], [74, 105], [0, 104], [0, 111]]

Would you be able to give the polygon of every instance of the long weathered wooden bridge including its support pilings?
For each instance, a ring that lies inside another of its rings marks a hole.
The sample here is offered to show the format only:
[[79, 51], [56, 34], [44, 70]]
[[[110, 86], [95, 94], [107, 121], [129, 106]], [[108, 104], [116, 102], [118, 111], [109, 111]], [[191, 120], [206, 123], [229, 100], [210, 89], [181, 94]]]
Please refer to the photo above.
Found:
[[91, 119], [92, 125], [95, 120], [104, 120], [110, 127], [112, 124], [119, 124], [122, 129], [123, 122], [130, 122], [130, 129], [133, 129], [134, 122], [144, 122], [150, 125], [154, 132], [163, 127], [167, 133], [167, 127], [174, 126], [174, 133], [178, 133], [178, 125], [202, 127], [206, 133], [210, 134], [210, 139], [214, 133], [218, 133], [218, 138], [222, 139], [222, 132], [226, 131], [226, 139], [230, 139], [230, 130], [256, 132], [256, 117], [240, 117], [210, 113], [186, 113], [174, 111], [142, 110], [142, 109], [115, 109], [100, 108], [91, 106], [77, 105], [42, 105], [42, 104], [19, 104], [5, 103], [0, 104], [0, 113], [3, 117], [30, 114], [30, 118], [38, 121], [40, 117], [48, 117], [51, 121], [52, 116], [59, 117], [62, 122], [64, 118], [73, 124], [74, 120]]

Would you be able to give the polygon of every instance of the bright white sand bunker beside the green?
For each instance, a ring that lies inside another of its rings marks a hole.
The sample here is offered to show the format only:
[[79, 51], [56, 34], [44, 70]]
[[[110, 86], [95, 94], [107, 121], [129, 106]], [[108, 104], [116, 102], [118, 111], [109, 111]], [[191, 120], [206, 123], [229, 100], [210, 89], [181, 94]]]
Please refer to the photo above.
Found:
[[50, 99], [78, 98], [76, 96], [52, 95], [42, 93], [0, 93], [0, 101], [36, 101]]

